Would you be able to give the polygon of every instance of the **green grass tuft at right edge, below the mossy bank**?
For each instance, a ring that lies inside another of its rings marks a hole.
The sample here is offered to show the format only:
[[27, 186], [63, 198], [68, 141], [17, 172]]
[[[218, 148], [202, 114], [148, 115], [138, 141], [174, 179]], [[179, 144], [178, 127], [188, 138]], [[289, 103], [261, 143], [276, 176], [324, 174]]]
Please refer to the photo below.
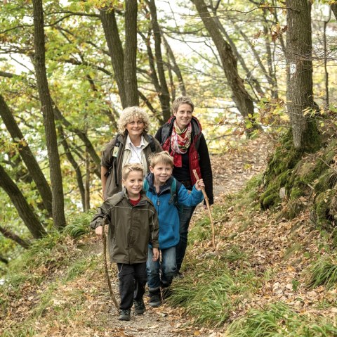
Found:
[[336, 257], [321, 257], [311, 268], [309, 288], [326, 286], [331, 288], [337, 282], [337, 260]]

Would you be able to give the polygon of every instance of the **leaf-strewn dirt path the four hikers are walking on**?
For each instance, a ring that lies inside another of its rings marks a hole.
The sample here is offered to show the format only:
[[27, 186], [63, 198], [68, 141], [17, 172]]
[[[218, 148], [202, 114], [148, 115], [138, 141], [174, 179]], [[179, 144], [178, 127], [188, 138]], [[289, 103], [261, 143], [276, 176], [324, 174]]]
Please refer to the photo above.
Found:
[[[221, 203], [223, 195], [239, 191], [245, 182], [258, 172], [262, 172], [266, 165], [269, 142], [265, 136], [250, 140], [237, 146], [232, 151], [223, 155], [212, 155], [213, 187], [215, 203]], [[203, 208], [197, 208], [197, 214], [204, 212]], [[193, 219], [191, 226], [193, 225]], [[94, 241], [94, 242], [93, 242]], [[91, 241], [91, 250], [95, 254], [102, 255], [102, 244], [97, 238]], [[118, 294], [117, 269], [112, 265], [112, 286], [114, 294]], [[194, 328], [189, 325], [190, 320], [179, 308], [162, 305], [152, 308], [147, 305], [148, 297], [145, 294], [147, 311], [143, 315], [134, 315], [131, 311], [131, 321], [121, 322], [117, 320], [117, 310], [114, 307], [110, 294], [107, 292], [106, 280], [93, 279], [91, 288], [98, 291], [90, 307], [93, 310], [91, 331], [94, 336], [127, 336], [127, 337], [215, 337], [220, 336], [216, 330], [206, 328]], [[118, 301], [117, 295], [117, 301]], [[97, 330], [96, 330], [96, 329]], [[98, 332], [100, 331], [100, 332]], [[104, 332], [103, 332], [104, 331]]]

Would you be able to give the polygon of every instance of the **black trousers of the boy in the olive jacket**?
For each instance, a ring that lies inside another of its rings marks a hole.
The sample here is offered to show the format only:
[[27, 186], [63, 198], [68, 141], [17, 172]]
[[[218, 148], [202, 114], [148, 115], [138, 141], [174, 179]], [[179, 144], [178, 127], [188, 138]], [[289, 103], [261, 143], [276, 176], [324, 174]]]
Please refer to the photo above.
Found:
[[146, 262], [126, 265], [117, 263], [119, 279], [120, 310], [131, 309], [133, 300], [141, 300], [147, 282]]

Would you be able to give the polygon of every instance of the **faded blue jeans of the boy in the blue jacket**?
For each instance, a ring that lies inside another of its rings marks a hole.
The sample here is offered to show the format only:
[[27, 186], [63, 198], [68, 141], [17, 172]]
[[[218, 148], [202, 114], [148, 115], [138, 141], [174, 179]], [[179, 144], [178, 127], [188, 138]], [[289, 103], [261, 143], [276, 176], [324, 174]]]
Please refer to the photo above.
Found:
[[159, 289], [160, 286], [166, 288], [171, 285], [173, 276], [177, 273], [176, 247], [161, 249], [161, 261], [152, 261], [152, 248], [149, 248], [147, 255], [147, 285], [150, 291]]

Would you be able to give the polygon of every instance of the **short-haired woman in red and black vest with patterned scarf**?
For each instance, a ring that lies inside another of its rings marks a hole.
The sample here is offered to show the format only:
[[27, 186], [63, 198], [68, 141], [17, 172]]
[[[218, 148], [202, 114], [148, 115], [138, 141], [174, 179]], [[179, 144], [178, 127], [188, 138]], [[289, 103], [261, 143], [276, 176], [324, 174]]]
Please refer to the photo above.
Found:
[[[210, 205], [213, 204], [213, 178], [211, 160], [199, 120], [192, 115], [194, 104], [187, 96], [172, 103], [173, 116], [157, 131], [156, 139], [164, 151], [173, 157], [173, 177], [186, 189], [192, 190], [196, 180], [193, 170], [204, 179]], [[185, 257], [187, 234], [195, 206], [179, 208], [180, 241], [176, 246], [178, 275]]]

